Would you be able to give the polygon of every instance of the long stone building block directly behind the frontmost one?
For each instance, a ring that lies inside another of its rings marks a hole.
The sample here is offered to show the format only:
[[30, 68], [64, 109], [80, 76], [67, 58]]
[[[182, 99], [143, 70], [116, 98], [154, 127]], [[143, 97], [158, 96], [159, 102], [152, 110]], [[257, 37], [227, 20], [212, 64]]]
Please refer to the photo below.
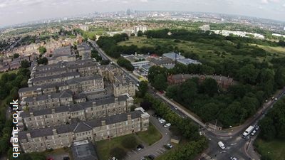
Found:
[[110, 117], [130, 112], [132, 106], [133, 98], [128, 95], [121, 95], [69, 106], [31, 110], [21, 112], [20, 121], [24, 122], [24, 124], [21, 123], [23, 126], [20, 126], [20, 128], [24, 128], [25, 125], [27, 129], [40, 129], [101, 117]]

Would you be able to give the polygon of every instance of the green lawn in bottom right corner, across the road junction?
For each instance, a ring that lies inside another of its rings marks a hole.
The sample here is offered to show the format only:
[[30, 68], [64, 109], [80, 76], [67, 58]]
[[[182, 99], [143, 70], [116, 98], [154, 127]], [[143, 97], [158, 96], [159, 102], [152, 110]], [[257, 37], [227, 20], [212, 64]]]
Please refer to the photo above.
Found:
[[261, 139], [257, 139], [255, 142], [257, 151], [261, 155], [269, 156], [272, 160], [284, 160], [285, 159], [285, 140], [273, 140], [266, 142]]

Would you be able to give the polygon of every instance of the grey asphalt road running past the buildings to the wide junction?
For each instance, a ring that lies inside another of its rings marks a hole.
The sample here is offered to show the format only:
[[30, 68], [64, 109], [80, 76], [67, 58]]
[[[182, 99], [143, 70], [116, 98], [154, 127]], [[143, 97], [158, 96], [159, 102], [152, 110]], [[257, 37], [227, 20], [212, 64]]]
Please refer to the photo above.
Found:
[[[108, 57], [103, 50], [101, 50], [95, 42], [91, 42], [96, 50], [98, 50], [98, 53], [102, 56], [103, 59], [112, 60], [112, 58]], [[131, 78], [134, 82], [138, 83], [138, 78], [135, 78], [133, 74], [125, 70], [124, 68], [121, 68], [116, 63], [113, 64], [116, 65], [118, 68], [124, 71], [125, 74], [129, 75], [129, 78]], [[172, 109], [173, 112], [180, 115], [180, 117], [189, 117], [192, 119], [195, 123], [197, 123], [199, 126], [202, 127], [201, 133], [204, 134], [209, 139], [209, 148], [204, 151], [204, 153], [199, 157], [199, 159], [229, 159], [229, 157], [234, 156], [237, 157], [239, 160], [247, 160], [247, 159], [254, 159], [259, 160], [259, 155], [255, 153], [254, 148], [252, 147], [254, 138], [255, 137], [249, 137], [249, 139], [244, 139], [241, 137], [244, 130], [249, 127], [249, 125], [254, 126], [255, 124], [258, 124], [259, 120], [264, 117], [264, 114], [268, 112], [268, 110], [273, 107], [275, 100], [269, 101], [264, 104], [263, 107], [257, 112], [257, 114], [254, 115], [252, 119], [247, 120], [244, 124], [242, 124], [239, 127], [235, 127], [233, 129], [224, 130], [224, 131], [217, 131], [207, 128], [206, 124], [204, 124], [201, 120], [197, 119], [195, 116], [187, 112], [185, 108], [180, 107], [179, 105], [176, 105], [175, 102], [172, 102], [172, 100], [168, 100], [167, 97], [164, 95], [155, 92], [155, 90], [152, 89], [152, 87], [149, 87], [148, 92], [155, 96], [156, 98], [159, 98], [160, 100], [164, 101], [166, 104], [169, 105], [169, 107]], [[281, 92], [277, 93], [275, 97], [277, 100], [279, 100], [282, 96], [285, 94], [285, 89]], [[264, 114], [263, 114], [264, 113]], [[150, 118], [152, 119], [152, 118]], [[217, 143], [219, 141], [222, 141], [226, 149], [220, 149]], [[147, 154], [150, 154], [150, 152], [153, 151], [152, 149], [145, 149], [144, 151], [139, 152], [137, 155], [134, 156], [135, 159], [141, 158], [142, 156], [145, 156]], [[133, 157], [133, 156], [132, 156]], [[135, 160], [134, 159], [134, 160]]]

